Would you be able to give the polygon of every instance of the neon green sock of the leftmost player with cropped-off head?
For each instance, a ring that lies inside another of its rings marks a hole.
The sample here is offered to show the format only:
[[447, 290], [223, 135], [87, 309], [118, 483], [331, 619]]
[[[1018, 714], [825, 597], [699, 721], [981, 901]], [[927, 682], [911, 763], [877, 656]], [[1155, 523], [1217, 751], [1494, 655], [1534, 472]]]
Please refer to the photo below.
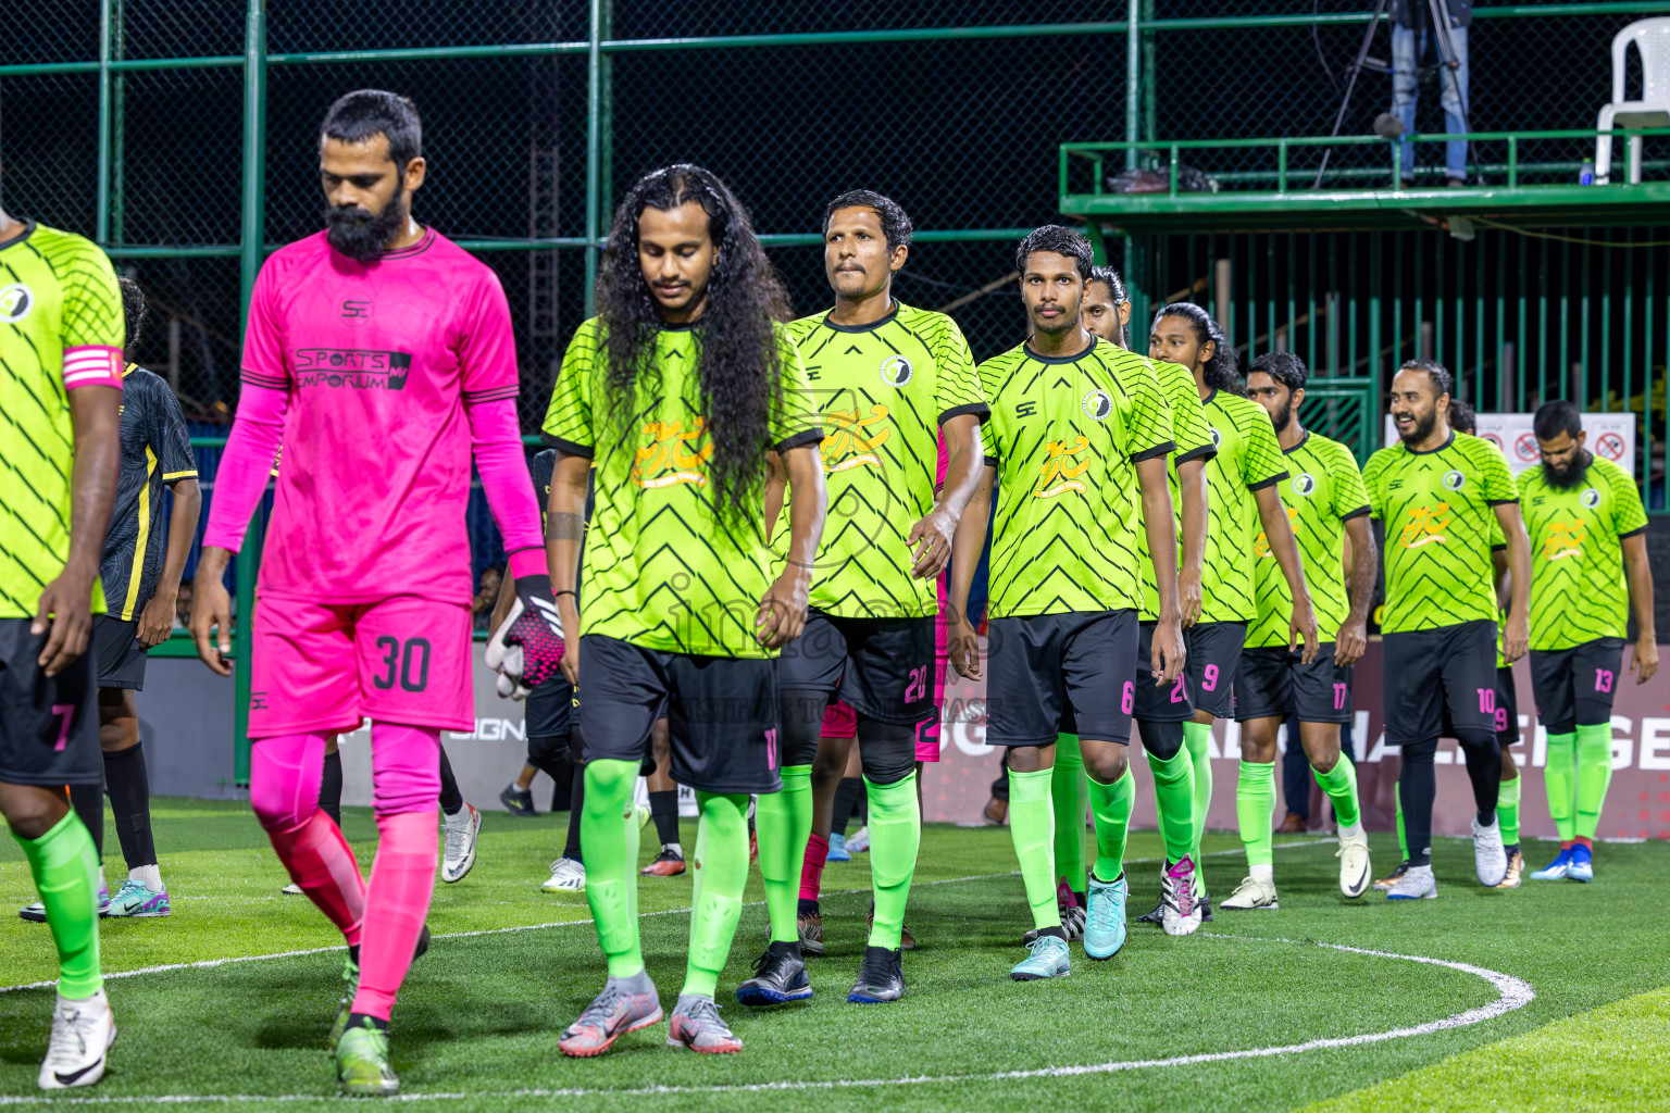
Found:
[[99, 975], [99, 856], [94, 838], [68, 813], [38, 839], [12, 833], [28, 859], [40, 901], [47, 906], [47, 928], [58, 948], [58, 993], [90, 998], [104, 988]]

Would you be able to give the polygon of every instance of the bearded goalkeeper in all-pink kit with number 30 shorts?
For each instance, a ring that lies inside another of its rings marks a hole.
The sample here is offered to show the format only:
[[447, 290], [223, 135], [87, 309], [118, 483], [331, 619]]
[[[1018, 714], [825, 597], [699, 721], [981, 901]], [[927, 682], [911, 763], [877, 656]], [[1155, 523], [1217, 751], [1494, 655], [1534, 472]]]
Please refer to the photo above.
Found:
[[[192, 607], [197, 652], [229, 672], [222, 574], [282, 442], [256, 589], [250, 804], [347, 939], [332, 1035], [351, 1095], [399, 1088], [387, 1023], [428, 939], [441, 731], [474, 728], [471, 459], [516, 581], [501, 641], [521, 647], [528, 684], [563, 649], [516, 421], [509, 307], [484, 264], [412, 220], [424, 169], [409, 100], [361, 90], [331, 105], [319, 140], [327, 229], [276, 252], [256, 279]], [[367, 718], [379, 833], [369, 884], [317, 808], [326, 741]]]

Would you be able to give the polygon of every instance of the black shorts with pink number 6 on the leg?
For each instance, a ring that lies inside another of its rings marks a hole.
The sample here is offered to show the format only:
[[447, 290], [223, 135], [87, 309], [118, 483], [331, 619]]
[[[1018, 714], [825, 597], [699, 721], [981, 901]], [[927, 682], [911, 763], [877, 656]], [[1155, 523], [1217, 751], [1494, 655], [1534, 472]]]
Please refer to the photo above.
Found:
[[1136, 611], [987, 622], [985, 741], [1049, 746], [1060, 734], [1131, 741]]

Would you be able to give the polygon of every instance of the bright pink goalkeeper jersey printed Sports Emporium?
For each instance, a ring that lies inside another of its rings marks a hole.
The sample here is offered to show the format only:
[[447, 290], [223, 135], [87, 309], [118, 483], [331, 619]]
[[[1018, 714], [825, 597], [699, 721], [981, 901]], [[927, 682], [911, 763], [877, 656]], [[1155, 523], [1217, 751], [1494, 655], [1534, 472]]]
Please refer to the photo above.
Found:
[[518, 394], [486, 264], [434, 229], [371, 265], [289, 244], [256, 279], [244, 382], [289, 392], [262, 592], [471, 599], [464, 405]]

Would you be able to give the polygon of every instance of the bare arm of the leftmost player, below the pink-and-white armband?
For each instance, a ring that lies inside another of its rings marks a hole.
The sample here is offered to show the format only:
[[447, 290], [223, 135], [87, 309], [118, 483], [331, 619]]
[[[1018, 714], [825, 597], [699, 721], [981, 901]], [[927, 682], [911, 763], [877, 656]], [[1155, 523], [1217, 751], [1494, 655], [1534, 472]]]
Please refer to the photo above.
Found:
[[70, 467], [70, 559], [42, 587], [28, 632], [47, 634], [40, 664], [57, 676], [87, 652], [92, 636], [92, 594], [99, 557], [110, 532], [115, 481], [122, 462], [122, 392], [115, 387], [70, 390], [70, 429], [75, 462]]

